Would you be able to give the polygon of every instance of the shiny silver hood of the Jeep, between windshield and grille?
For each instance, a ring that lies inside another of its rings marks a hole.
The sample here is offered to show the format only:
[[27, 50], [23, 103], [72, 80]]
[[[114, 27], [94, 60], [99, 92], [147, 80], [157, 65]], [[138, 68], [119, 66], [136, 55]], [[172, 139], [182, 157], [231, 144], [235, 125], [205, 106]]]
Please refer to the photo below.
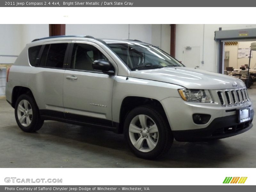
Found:
[[[131, 71], [132, 77], [177, 84], [188, 89], [232, 89], [244, 87], [236, 77], [187, 67]], [[233, 84], [237, 84], [233, 85]]]

